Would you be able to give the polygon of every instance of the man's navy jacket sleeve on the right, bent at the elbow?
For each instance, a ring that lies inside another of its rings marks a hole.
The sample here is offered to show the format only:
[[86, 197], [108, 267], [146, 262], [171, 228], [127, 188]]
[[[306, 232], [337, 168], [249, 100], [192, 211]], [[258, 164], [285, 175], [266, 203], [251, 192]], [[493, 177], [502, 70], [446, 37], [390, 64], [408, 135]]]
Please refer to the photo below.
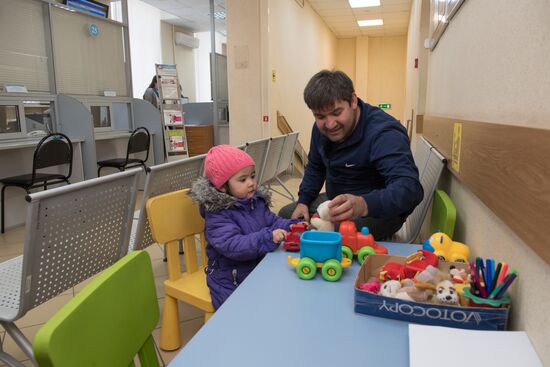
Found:
[[371, 159], [384, 177], [386, 187], [363, 195], [368, 216], [390, 218], [410, 213], [424, 196], [408, 138], [390, 128], [380, 132], [372, 143]]

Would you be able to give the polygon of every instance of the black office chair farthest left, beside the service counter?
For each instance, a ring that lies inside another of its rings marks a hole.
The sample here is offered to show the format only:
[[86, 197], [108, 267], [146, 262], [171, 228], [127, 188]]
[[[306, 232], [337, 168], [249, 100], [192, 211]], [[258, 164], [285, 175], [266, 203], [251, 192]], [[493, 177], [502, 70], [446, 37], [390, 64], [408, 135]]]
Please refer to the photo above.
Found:
[[[69, 165], [68, 173], [66, 175], [61, 173], [48, 173], [37, 172], [44, 168]], [[69, 177], [73, 170], [73, 144], [71, 139], [65, 134], [52, 133], [42, 138], [38, 142], [34, 151], [34, 157], [32, 162], [32, 173], [5, 177], [0, 179], [2, 183], [2, 233], [4, 233], [4, 191], [8, 186], [21, 187], [27, 194], [30, 194], [30, 190], [37, 187], [44, 187], [44, 190], [48, 189], [48, 185], [54, 185], [65, 182], [70, 184]]]

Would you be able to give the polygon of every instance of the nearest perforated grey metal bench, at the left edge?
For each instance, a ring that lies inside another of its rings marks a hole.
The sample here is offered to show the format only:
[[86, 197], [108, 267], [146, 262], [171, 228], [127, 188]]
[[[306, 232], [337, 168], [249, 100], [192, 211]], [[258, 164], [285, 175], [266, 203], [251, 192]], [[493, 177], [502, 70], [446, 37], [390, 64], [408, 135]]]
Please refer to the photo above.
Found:
[[[31, 343], [15, 321], [127, 253], [140, 171], [27, 196], [23, 255], [0, 263], [0, 324], [33, 362]], [[20, 365], [1, 344], [0, 360]]]

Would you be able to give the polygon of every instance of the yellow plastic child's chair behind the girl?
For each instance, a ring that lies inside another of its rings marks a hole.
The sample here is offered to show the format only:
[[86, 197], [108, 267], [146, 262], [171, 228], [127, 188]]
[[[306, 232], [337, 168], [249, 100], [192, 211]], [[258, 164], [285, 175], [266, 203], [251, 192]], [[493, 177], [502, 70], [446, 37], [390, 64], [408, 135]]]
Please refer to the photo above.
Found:
[[[159, 195], [147, 201], [147, 217], [155, 242], [166, 246], [168, 279], [164, 281], [164, 311], [160, 347], [175, 350], [181, 347], [177, 301], [183, 301], [204, 310], [204, 321], [214, 313], [210, 291], [206, 285], [204, 266], [206, 241], [204, 220], [199, 207], [187, 193], [189, 189]], [[202, 266], [197, 261], [195, 235], [200, 235]], [[179, 241], [184, 241], [186, 271], [181, 272], [178, 254]]]

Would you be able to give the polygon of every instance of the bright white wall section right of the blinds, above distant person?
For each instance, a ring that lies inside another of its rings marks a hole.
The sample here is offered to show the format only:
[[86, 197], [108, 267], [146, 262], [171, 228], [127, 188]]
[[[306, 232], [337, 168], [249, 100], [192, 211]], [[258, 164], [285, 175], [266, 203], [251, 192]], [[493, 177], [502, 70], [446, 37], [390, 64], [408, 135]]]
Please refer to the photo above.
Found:
[[162, 63], [161, 11], [140, 0], [128, 0], [130, 57], [134, 98], [141, 98]]

